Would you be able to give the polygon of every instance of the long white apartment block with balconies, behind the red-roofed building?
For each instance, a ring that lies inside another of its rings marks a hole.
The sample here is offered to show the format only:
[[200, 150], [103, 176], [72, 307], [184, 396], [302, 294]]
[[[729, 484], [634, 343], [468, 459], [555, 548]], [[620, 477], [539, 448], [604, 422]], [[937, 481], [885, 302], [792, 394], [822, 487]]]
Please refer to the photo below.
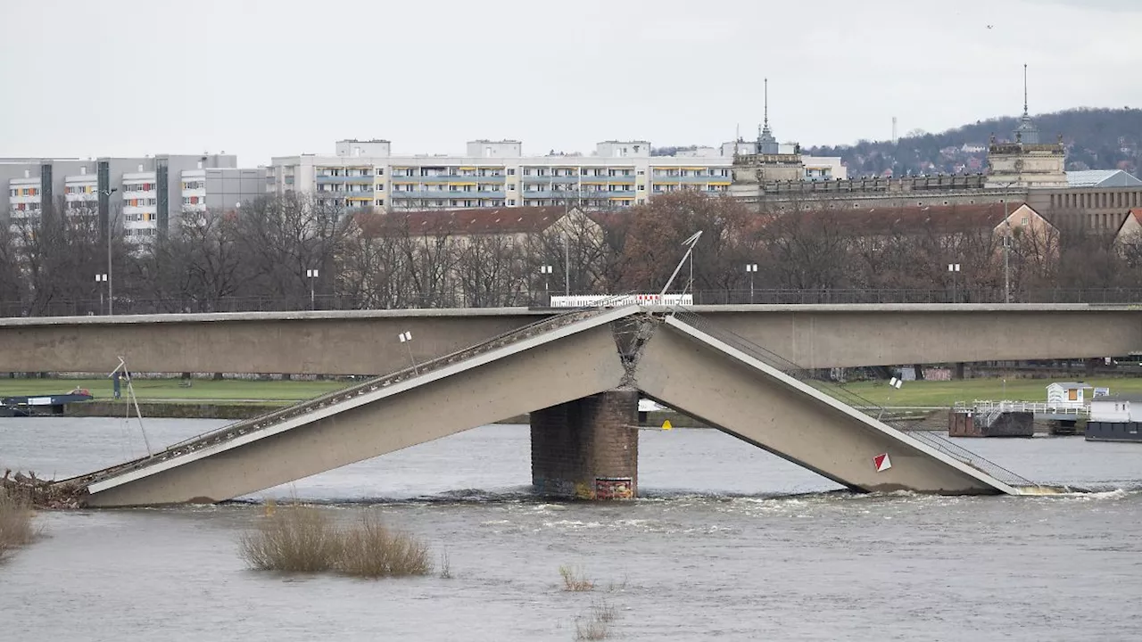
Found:
[[[518, 141], [472, 141], [464, 155], [393, 155], [388, 141], [339, 141], [333, 155], [274, 158], [266, 188], [347, 208], [621, 208], [678, 190], [727, 192], [726, 145], [657, 157], [648, 141], [605, 141], [592, 155], [526, 157]], [[839, 159], [804, 159], [805, 179], [845, 177]]]

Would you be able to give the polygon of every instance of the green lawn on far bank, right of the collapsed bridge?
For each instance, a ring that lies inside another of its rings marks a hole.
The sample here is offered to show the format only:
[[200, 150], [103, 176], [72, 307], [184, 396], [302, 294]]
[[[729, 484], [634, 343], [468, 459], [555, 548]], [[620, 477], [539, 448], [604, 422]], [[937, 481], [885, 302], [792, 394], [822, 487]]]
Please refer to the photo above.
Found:
[[[1006, 388], [1002, 379], [904, 382], [900, 390], [890, 387], [887, 382], [856, 382], [846, 384], [845, 388], [879, 406], [951, 406], [957, 401], [971, 402], [976, 399], [1046, 401], [1047, 385], [1053, 380], [1055, 379], [1007, 379]], [[1078, 377], [1075, 380], [1109, 387], [1110, 394], [1142, 394], [1142, 377]]]

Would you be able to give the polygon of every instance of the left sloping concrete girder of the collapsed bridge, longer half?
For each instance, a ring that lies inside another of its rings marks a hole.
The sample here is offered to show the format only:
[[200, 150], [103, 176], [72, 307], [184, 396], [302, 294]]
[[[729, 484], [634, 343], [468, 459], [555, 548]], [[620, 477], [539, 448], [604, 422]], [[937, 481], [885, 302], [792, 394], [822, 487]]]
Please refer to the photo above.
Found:
[[329, 409], [312, 423], [91, 484], [87, 505], [232, 499], [621, 384], [626, 369], [609, 319], [570, 337], [541, 339], [509, 346], [475, 367], [460, 363], [434, 380], [411, 379], [340, 411]]

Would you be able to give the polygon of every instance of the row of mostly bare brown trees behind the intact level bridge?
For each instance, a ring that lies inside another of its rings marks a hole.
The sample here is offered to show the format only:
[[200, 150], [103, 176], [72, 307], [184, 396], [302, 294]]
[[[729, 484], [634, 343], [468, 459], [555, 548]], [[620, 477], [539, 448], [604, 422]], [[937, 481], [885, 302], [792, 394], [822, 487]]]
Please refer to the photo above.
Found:
[[[958, 292], [956, 300], [1032, 300], [1045, 289], [1132, 288], [1142, 242], [1016, 228], [1004, 250], [991, 224], [887, 218], [875, 225], [828, 201], [750, 209], [685, 191], [610, 212], [571, 214], [542, 228], [466, 234], [419, 228], [413, 215], [345, 215], [300, 194], [241, 214], [202, 211], [132, 244], [111, 239], [116, 313], [544, 305], [552, 295], [657, 292], [702, 231], [673, 291], [745, 303], [750, 290]], [[892, 217], [886, 208], [886, 217]], [[54, 211], [63, 214], [54, 214]], [[966, 217], [965, 217], [966, 220]], [[90, 211], [49, 208], [0, 230], [0, 312], [100, 314], [107, 241]], [[1006, 259], [1006, 270], [1005, 270]], [[959, 264], [959, 272], [948, 272]], [[748, 272], [747, 265], [756, 265]], [[316, 276], [314, 276], [314, 271]], [[692, 279], [692, 281], [691, 281]], [[312, 297], [312, 298], [311, 298]], [[699, 300], [702, 300], [701, 298]]]

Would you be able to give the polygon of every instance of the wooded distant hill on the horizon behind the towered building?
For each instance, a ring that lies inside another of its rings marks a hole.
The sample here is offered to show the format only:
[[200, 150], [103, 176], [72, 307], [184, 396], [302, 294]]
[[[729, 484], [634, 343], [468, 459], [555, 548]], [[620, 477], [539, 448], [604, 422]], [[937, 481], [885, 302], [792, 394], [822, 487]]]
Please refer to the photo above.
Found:
[[[1142, 110], [1078, 109], [1035, 115], [1042, 142], [1062, 136], [1067, 169], [1123, 169], [1135, 176], [1142, 164]], [[916, 174], [975, 174], [987, 168], [990, 136], [1011, 139], [1018, 118], [994, 118], [941, 134], [910, 133], [895, 144], [861, 141], [855, 145], [803, 147], [819, 157], [841, 157], [850, 177]]]

